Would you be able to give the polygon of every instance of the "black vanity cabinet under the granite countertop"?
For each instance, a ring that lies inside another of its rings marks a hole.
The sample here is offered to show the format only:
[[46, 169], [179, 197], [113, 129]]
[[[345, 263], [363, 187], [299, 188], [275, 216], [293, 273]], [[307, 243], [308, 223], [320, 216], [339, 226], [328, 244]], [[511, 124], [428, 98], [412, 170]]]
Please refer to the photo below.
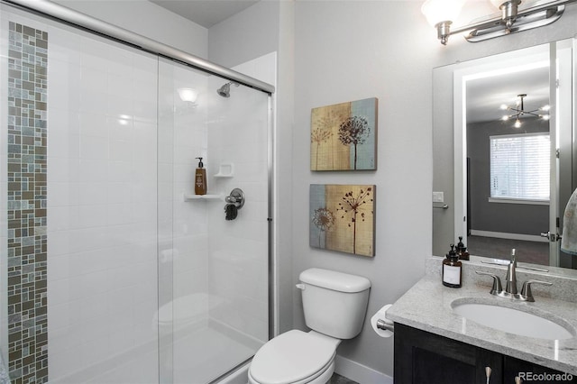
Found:
[[[527, 361], [505, 356], [471, 344], [431, 334], [408, 325], [395, 324], [395, 384], [514, 384], [518, 372], [563, 374]], [[572, 380], [524, 380], [531, 383], [577, 382]]]

